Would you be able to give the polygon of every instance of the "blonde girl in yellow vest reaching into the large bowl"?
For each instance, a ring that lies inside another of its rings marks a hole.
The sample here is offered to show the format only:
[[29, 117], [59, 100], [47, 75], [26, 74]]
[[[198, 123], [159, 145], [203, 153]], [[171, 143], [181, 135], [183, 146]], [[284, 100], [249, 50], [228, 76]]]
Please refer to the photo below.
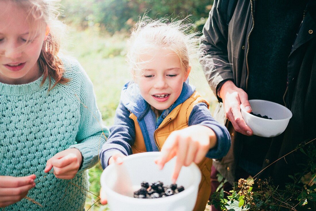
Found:
[[[210, 196], [212, 160], [222, 158], [230, 136], [217, 123], [206, 102], [188, 84], [190, 61], [198, 57], [198, 37], [183, 21], [143, 18], [129, 39], [127, 60], [133, 82], [125, 84], [111, 135], [103, 145], [103, 168], [140, 152], [161, 151], [160, 168], [177, 155], [173, 182], [181, 166], [192, 162], [202, 172], [194, 211], [204, 211]], [[106, 203], [101, 195], [101, 203]]]

